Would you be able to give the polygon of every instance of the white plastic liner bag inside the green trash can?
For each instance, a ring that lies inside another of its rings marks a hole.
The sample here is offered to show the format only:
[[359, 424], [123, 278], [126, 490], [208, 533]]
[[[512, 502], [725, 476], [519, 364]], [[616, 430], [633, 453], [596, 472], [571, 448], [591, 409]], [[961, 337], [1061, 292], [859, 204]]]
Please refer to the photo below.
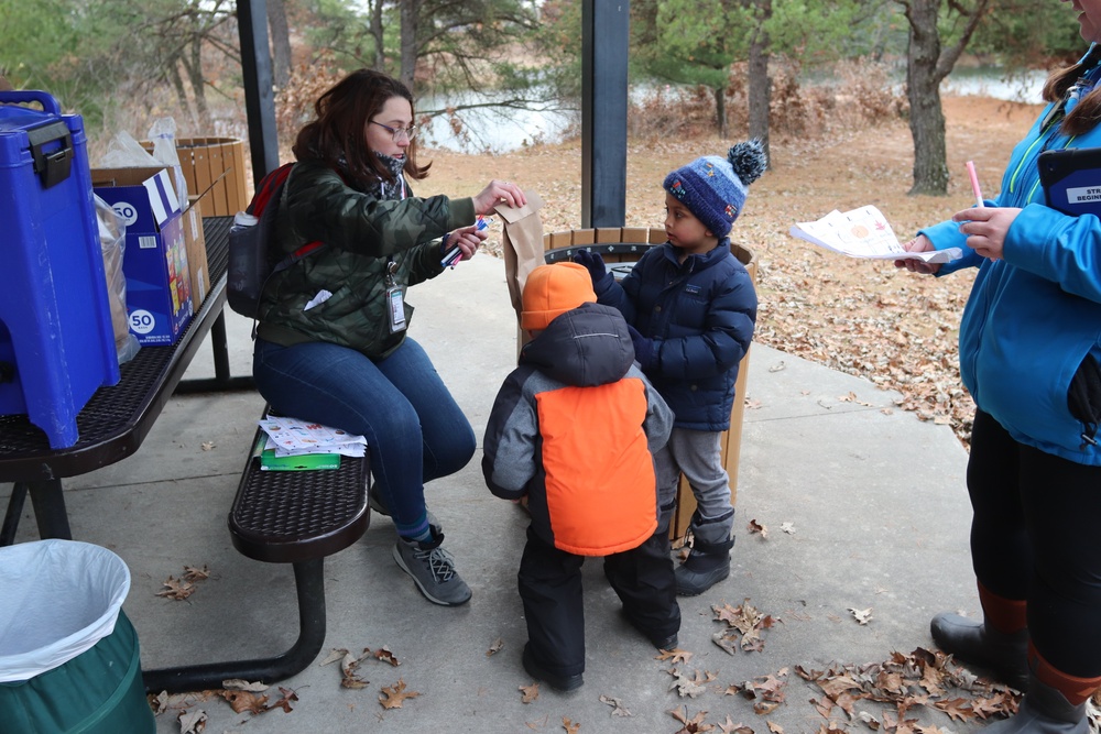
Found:
[[107, 548], [37, 540], [0, 548], [0, 683], [65, 665], [115, 632], [130, 569]]

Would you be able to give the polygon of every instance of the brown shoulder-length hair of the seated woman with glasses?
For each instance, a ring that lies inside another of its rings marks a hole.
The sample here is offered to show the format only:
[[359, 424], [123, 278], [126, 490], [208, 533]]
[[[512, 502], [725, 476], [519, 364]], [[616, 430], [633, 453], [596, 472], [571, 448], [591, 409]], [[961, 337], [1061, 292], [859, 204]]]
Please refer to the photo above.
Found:
[[[298, 161], [324, 161], [333, 168], [346, 168], [357, 179], [381, 178], [393, 183], [393, 175], [374, 151], [367, 145], [367, 123], [390, 99], [401, 97], [413, 109], [413, 94], [397, 79], [373, 69], [358, 69], [317, 98], [317, 119], [298, 131], [294, 157]], [[416, 140], [405, 149], [405, 175], [419, 180], [428, 175], [429, 163], [416, 163]]]

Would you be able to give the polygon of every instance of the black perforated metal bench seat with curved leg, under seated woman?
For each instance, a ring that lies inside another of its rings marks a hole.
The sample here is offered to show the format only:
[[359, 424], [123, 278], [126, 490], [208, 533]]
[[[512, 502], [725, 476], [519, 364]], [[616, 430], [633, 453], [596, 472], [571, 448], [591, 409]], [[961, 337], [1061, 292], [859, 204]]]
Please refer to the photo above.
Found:
[[[258, 429], [251, 447], [260, 434]], [[370, 483], [366, 456], [341, 457], [338, 469], [263, 471], [259, 456], [250, 451], [229, 511], [229, 533], [233, 547], [249, 558], [294, 567], [298, 638], [286, 653], [271, 658], [145, 670], [145, 690], [221, 688], [229, 678], [270, 683], [313, 662], [325, 643], [325, 557], [352, 545], [367, 530]]]

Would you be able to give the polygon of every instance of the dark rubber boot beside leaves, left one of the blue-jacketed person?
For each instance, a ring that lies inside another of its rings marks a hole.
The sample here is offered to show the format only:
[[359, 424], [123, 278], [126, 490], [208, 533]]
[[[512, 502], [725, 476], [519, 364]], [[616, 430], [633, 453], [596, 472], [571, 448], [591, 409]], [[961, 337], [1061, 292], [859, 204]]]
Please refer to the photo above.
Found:
[[1028, 628], [1023, 601], [1005, 599], [979, 584], [983, 622], [941, 612], [929, 632], [937, 646], [957, 660], [984, 668], [1018, 691], [1028, 688]]

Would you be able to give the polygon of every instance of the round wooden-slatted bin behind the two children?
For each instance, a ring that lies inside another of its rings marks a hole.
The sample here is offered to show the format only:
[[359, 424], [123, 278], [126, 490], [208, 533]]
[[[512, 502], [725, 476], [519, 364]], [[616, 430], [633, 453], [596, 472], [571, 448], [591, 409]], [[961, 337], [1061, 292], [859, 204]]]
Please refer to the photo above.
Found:
[[[548, 263], [573, 260], [578, 250], [591, 250], [600, 253], [608, 270], [613, 275], [622, 276], [639, 261], [639, 258], [656, 244], [668, 240], [664, 229], [640, 227], [599, 227], [597, 229], [571, 229], [565, 232], [550, 232], [543, 235], [544, 260]], [[734, 256], [749, 271], [753, 283], [756, 283], [756, 256], [752, 250], [730, 243]], [[746, 352], [738, 368], [738, 382], [734, 386], [734, 405], [730, 410], [730, 429], [723, 431], [722, 464], [730, 475], [730, 504], [735, 504], [738, 497], [738, 456], [742, 441], [742, 414], [745, 410], [745, 381], [749, 379], [750, 355]], [[696, 497], [693, 496], [688, 482], [680, 479], [677, 487], [677, 511], [669, 527], [674, 539], [683, 536], [688, 529], [691, 514], [696, 511]]]

